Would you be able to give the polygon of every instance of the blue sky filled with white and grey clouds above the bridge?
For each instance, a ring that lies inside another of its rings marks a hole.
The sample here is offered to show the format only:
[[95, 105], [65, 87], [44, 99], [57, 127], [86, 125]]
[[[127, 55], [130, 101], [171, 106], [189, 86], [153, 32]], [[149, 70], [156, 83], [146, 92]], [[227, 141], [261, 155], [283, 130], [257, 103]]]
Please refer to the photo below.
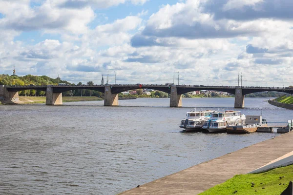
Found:
[[0, 74], [289, 86], [292, 10], [293, 0], [0, 0]]

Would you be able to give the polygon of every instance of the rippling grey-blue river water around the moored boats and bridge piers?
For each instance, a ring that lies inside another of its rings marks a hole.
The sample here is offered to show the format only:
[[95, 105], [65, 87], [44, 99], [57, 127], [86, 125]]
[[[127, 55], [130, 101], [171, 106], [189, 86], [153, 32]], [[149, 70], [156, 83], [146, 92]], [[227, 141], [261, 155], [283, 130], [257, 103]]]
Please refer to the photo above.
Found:
[[[63, 106], [0, 106], [1, 195], [115, 195], [154, 179], [278, 136], [183, 133], [179, 123], [197, 110], [233, 109], [286, 124], [293, 111], [268, 98], [168, 98], [67, 102]], [[278, 123], [276, 123], [278, 122]], [[219, 165], [220, 166], [220, 165]]]

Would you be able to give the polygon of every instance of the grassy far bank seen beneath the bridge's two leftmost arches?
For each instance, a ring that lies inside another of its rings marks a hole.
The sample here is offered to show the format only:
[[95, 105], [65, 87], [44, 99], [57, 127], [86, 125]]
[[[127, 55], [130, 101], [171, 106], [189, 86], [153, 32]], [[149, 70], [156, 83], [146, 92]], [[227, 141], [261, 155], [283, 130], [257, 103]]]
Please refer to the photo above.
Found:
[[[19, 97], [20, 101], [24, 104], [27, 103], [46, 103], [46, 97]], [[63, 102], [72, 102], [72, 101], [98, 101], [103, 100], [102, 98], [97, 97], [62, 97]]]

